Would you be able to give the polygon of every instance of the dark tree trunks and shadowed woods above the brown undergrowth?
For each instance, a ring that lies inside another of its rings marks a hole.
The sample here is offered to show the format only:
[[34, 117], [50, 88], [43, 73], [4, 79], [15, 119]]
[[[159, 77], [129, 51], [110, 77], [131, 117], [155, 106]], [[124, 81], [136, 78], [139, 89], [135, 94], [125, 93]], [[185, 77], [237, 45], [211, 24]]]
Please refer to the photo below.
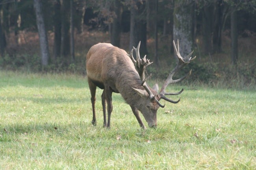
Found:
[[[201, 52], [208, 55], [222, 51], [222, 33], [229, 29], [230, 55], [236, 64], [239, 31], [256, 31], [256, 0], [0, 0], [0, 11], [1, 56], [5, 55], [10, 31], [17, 35], [19, 30], [37, 28], [43, 66], [58, 58], [67, 63], [75, 61], [74, 29], [81, 33], [84, 24], [108, 30], [114, 46], [120, 46], [121, 33], [129, 31], [129, 48], [141, 41], [142, 54], [147, 54], [147, 39], [154, 38], [156, 64], [158, 35], [180, 39], [185, 54], [195, 46], [195, 37], [201, 35]], [[238, 13], [247, 14], [247, 18]], [[47, 31], [54, 33], [52, 57]]]

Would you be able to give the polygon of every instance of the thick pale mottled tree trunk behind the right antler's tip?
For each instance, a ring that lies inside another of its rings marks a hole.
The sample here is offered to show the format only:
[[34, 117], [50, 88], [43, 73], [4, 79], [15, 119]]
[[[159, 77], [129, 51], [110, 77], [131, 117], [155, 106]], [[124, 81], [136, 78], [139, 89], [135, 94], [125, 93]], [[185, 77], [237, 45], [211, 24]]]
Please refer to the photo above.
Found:
[[188, 55], [193, 46], [193, 8], [188, 3], [182, 3], [180, 0], [174, 2], [173, 12], [173, 38], [180, 42], [180, 54]]

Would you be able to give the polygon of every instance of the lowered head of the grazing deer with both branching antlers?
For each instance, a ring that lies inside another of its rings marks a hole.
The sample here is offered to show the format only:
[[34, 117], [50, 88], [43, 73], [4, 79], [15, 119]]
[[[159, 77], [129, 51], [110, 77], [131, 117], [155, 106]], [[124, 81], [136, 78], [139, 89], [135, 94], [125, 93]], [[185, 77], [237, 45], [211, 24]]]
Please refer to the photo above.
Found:
[[[164, 99], [165, 101], [168, 101], [171, 103], [178, 103], [180, 101], [180, 99], [178, 101], [173, 101], [171, 99], [168, 99], [165, 96], [166, 95], [179, 95], [184, 90], [184, 89], [182, 89], [178, 93], [166, 93], [165, 88], [169, 84], [174, 84], [176, 82], [180, 82], [180, 81], [186, 79], [191, 74], [191, 70], [190, 70], [189, 73], [187, 73], [187, 75], [185, 75], [184, 77], [177, 79], [177, 80], [173, 80], [173, 76], [182, 67], [184, 67], [185, 65], [189, 64], [192, 60], [194, 60], [195, 57], [193, 57], [193, 58], [190, 57], [192, 55], [193, 51], [191, 53], [189, 53], [189, 55], [187, 55], [186, 57], [182, 57], [180, 55], [180, 51], [179, 51], [179, 41], [177, 40], [177, 48], [176, 48], [176, 44], [173, 40], [173, 46], [174, 46], [174, 50], [176, 52], [176, 57], [178, 58], [178, 62], [177, 62], [176, 67], [173, 69], [173, 71], [171, 71], [171, 73], [165, 80], [160, 92], [158, 93], [158, 85], [157, 84], [155, 84], [153, 86], [153, 88], [150, 88], [150, 87], [148, 87], [148, 85], [146, 83], [147, 78], [145, 78], [145, 69], [148, 65], [152, 64], [152, 62], [150, 62], [148, 59], [146, 59], [146, 55], [145, 55], [145, 57], [143, 57], [143, 59], [140, 58], [139, 46], [140, 46], [140, 42], [139, 42], [137, 48], [133, 48], [131, 50], [130, 55], [128, 55], [132, 59], [132, 61], [135, 63], [135, 67], [139, 73], [139, 76], [141, 77], [141, 80], [142, 80], [141, 86], [144, 87], [144, 90], [134, 88], [134, 90], [141, 96], [141, 100], [139, 101], [140, 105], [137, 106], [137, 109], [139, 111], [141, 111], [141, 113], [143, 114], [143, 117], [147, 121], [148, 126], [155, 127], [157, 125], [157, 120], [156, 120], [157, 110], [159, 107], [161, 107], [161, 108], [165, 107], [165, 105], [162, 105], [159, 102], [160, 99]], [[136, 53], [136, 60], [134, 59], [134, 57], [132, 55], [133, 50], [135, 50], [135, 53]]]

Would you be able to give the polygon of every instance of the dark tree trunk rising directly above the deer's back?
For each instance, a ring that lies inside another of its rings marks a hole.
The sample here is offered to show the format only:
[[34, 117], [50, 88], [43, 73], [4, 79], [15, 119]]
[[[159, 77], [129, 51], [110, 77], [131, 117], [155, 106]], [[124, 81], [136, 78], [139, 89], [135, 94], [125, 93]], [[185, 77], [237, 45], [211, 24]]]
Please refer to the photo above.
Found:
[[110, 33], [111, 33], [111, 44], [113, 46], [120, 47], [120, 37], [121, 37], [121, 20], [122, 20], [122, 4], [120, 0], [115, 0], [114, 11], [116, 18], [114, 18], [113, 23], [111, 23]]

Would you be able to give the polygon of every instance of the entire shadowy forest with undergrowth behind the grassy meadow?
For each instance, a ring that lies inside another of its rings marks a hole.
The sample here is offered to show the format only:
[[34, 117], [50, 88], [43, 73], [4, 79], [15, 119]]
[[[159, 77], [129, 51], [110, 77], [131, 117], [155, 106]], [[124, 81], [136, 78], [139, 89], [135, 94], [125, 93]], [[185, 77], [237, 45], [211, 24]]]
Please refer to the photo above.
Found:
[[94, 44], [129, 53], [141, 41], [161, 79], [179, 39], [197, 55], [190, 80], [255, 83], [256, 0], [0, 0], [0, 14], [1, 69], [86, 74]]

